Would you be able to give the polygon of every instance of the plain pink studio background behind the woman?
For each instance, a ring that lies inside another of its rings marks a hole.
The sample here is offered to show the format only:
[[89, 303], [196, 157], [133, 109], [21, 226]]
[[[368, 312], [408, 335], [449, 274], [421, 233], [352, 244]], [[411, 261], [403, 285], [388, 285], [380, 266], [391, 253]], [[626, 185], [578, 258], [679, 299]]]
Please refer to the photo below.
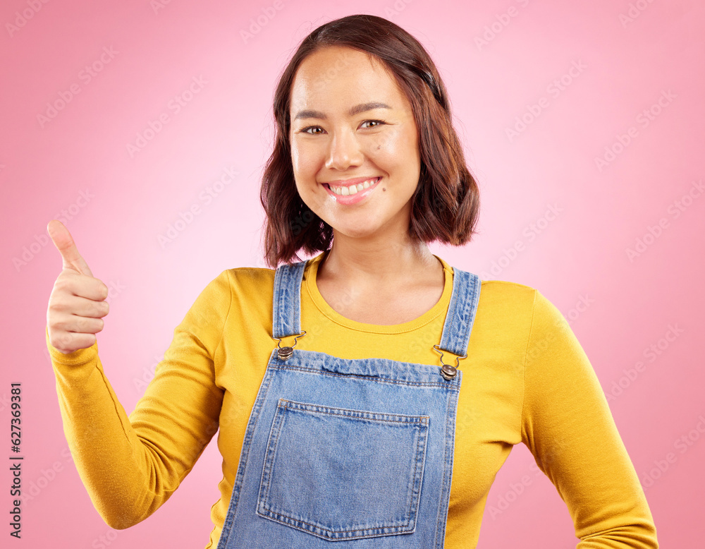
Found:
[[[630, 9], [637, 16], [627, 20]], [[259, 176], [276, 78], [310, 30], [351, 13], [410, 31], [448, 86], [481, 188], [481, 232], [462, 248], [431, 250], [482, 278], [534, 286], [570, 319], [647, 486], [661, 544], [701, 547], [705, 196], [694, 183], [705, 178], [705, 8], [697, 0], [4, 0], [0, 454], [11, 454], [7, 399], [21, 382], [23, 484], [33, 494], [16, 545], [207, 543], [221, 477], [214, 444], [142, 524], [114, 531], [94, 510], [68, 454], [44, 344], [61, 270], [47, 223], [66, 210], [80, 253], [113, 288], [100, 356], [129, 412], [204, 286], [223, 269], [264, 266]], [[264, 25], [250, 30], [258, 18]], [[61, 95], [73, 97], [52, 112], [47, 103]], [[161, 131], [130, 154], [162, 114]], [[525, 127], [515, 128], [517, 117]], [[226, 169], [235, 181], [206, 203], [202, 193]], [[200, 215], [162, 245], [193, 205]], [[644, 247], [630, 258], [637, 239]], [[8, 485], [8, 467], [0, 469]], [[10, 500], [2, 490], [4, 517]], [[516, 447], [487, 500], [479, 546], [575, 543], [555, 488]]]

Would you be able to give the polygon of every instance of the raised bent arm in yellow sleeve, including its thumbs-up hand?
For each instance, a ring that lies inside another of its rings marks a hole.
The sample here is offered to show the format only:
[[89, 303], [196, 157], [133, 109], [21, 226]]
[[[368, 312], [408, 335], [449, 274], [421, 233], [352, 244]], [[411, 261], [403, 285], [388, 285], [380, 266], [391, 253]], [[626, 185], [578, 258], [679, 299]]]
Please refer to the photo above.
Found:
[[98, 357], [106, 286], [63, 225], [49, 234], [63, 258], [47, 308], [47, 347], [63, 430], [97, 511], [114, 529], [149, 517], [178, 488], [218, 429], [214, 356], [229, 311], [229, 280], [214, 279], [174, 330], [145, 395], [128, 417]]

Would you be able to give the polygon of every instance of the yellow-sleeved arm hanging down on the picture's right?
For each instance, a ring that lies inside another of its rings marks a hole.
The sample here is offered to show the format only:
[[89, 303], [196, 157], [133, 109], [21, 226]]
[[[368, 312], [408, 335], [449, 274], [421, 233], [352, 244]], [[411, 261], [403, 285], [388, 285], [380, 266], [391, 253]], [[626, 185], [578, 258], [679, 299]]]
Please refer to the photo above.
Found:
[[644, 490], [597, 376], [568, 322], [535, 291], [522, 442], [556, 486], [577, 549], [658, 548]]

